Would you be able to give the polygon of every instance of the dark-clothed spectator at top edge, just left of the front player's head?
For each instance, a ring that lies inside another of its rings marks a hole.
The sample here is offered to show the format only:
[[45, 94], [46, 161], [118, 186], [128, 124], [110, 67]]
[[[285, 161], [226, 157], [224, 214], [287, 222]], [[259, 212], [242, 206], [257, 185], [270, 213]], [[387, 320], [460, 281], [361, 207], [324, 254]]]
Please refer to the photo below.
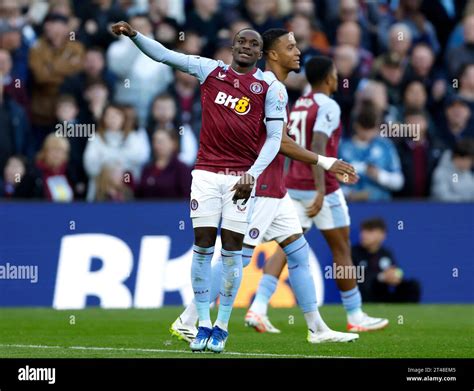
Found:
[[199, 31], [203, 40], [203, 55], [209, 57], [216, 50], [219, 38], [225, 37], [226, 19], [219, 11], [218, 0], [194, 0], [194, 9], [186, 19], [186, 30]]

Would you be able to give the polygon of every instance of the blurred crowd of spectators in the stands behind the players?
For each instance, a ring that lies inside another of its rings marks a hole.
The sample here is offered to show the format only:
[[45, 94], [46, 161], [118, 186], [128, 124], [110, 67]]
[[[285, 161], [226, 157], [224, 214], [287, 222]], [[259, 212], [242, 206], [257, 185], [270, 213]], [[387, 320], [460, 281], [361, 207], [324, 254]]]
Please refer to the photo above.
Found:
[[1, 198], [188, 197], [199, 82], [114, 36], [120, 20], [226, 63], [240, 29], [287, 28], [290, 103], [311, 56], [338, 69], [350, 200], [474, 201], [474, 0], [1, 0]]

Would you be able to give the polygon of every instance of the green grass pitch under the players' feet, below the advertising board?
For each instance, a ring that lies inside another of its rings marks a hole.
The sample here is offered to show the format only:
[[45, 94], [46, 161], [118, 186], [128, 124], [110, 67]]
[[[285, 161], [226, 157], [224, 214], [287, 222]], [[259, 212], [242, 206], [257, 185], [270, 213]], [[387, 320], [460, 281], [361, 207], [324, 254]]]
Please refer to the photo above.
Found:
[[[298, 308], [271, 309], [281, 334], [259, 334], [243, 324], [235, 309], [226, 352], [192, 353], [172, 337], [170, 324], [181, 307], [159, 310], [58, 311], [46, 308], [0, 309], [0, 357], [15, 358], [431, 358], [474, 357], [473, 305], [365, 305], [372, 316], [390, 320], [388, 328], [361, 333], [346, 344], [311, 345]], [[321, 314], [333, 329], [345, 329], [342, 306]], [[215, 311], [212, 318], [216, 316]]]

